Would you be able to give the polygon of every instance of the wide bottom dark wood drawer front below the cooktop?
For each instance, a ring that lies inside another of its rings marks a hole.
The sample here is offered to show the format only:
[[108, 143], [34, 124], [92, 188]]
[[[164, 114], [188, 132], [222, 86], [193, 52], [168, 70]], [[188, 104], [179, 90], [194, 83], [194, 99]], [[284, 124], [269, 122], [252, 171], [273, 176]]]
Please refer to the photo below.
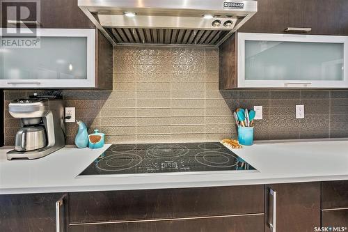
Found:
[[119, 224], [72, 225], [70, 232], [264, 232], [264, 215]]

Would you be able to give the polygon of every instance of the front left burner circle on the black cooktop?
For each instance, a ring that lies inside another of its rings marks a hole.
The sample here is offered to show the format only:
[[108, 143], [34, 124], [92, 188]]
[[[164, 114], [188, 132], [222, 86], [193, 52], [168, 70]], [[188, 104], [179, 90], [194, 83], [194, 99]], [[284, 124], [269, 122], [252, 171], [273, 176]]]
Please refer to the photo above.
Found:
[[133, 153], [121, 153], [103, 157], [97, 162], [97, 168], [102, 171], [124, 171], [132, 169], [142, 162], [141, 156]]

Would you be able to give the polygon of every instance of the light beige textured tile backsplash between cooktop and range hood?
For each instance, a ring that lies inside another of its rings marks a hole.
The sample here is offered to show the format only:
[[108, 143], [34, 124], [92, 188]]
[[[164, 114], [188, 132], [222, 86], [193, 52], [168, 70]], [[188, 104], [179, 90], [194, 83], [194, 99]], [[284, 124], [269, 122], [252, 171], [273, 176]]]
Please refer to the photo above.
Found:
[[[102, 125], [135, 127], [137, 142], [217, 141], [235, 133], [231, 111], [218, 89], [217, 49], [116, 47], [113, 54], [113, 92], [122, 91], [124, 101], [106, 100]], [[125, 101], [132, 93], [134, 102]], [[118, 118], [110, 118], [106, 108]], [[120, 118], [116, 108], [127, 118]], [[129, 109], [135, 115], [125, 111]]]

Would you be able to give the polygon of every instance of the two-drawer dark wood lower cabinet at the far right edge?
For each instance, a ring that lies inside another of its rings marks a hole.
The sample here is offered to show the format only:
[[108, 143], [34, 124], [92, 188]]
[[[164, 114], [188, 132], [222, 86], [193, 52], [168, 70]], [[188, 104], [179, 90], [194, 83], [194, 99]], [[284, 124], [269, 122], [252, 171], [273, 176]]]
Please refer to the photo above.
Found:
[[348, 180], [322, 183], [322, 226], [348, 228]]

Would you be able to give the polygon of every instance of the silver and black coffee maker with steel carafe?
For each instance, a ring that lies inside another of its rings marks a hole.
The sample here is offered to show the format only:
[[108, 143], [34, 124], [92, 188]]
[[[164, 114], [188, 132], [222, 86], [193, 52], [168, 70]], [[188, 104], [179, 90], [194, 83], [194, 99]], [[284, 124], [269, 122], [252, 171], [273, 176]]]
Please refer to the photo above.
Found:
[[21, 118], [22, 125], [15, 137], [15, 150], [7, 153], [8, 160], [37, 159], [65, 146], [63, 99], [34, 94], [10, 102], [8, 112]]

